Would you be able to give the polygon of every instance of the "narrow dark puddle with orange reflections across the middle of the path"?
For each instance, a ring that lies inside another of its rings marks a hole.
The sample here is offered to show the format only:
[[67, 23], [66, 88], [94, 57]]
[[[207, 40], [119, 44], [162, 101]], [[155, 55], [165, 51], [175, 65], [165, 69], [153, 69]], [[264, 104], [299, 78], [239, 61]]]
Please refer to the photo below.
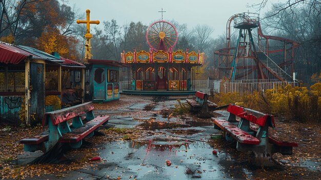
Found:
[[175, 128], [185, 128], [190, 127], [189, 125], [184, 124], [178, 124], [178, 123], [172, 123], [172, 122], [145, 122], [137, 126], [140, 129], [144, 130], [156, 130], [156, 129], [175, 129]]

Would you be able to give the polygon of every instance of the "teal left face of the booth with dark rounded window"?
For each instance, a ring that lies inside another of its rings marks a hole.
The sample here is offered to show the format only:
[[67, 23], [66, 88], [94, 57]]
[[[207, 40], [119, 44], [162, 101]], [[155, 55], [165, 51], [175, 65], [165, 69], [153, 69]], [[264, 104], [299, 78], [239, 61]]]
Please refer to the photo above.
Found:
[[106, 99], [105, 68], [94, 68], [94, 99]]

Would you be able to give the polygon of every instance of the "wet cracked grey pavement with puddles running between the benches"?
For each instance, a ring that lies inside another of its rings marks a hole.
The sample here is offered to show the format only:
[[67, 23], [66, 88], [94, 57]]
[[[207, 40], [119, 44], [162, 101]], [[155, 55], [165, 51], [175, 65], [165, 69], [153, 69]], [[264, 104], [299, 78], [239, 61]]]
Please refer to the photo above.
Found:
[[[217, 154], [213, 154], [208, 141], [219, 131], [210, 119], [195, 121], [188, 115], [173, 116], [175, 104], [177, 101], [150, 101], [134, 103], [126, 109], [95, 111], [96, 115], [109, 114], [111, 126], [161, 133], [95, 145], [102, 161], [69, 172], [64, 179], [257, 179], [256, 169], [249, 168], [237, 154], [224, 148], [214, 149]], [[226, 111], [215, 112], [221, 114], [219, 118], [228, 117]], [[306, 166], [311, 164], [315, 167], [315, 162], [307, 162]], [[45, 175], [41, 179], [55, 177]]]

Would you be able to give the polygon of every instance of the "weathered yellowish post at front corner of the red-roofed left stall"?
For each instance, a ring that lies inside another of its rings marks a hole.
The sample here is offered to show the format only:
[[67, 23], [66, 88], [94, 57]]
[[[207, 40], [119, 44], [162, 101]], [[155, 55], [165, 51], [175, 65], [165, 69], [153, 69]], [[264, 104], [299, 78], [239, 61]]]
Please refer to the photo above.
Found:
[[25, 119], [26, 119], [26, 125], [30, 126], [30, 116], [29, 116], [29, 110], [30, 110], [30, 86], [29, 81], [30, 79], [30, 62], [29, 60], [25, 63]]

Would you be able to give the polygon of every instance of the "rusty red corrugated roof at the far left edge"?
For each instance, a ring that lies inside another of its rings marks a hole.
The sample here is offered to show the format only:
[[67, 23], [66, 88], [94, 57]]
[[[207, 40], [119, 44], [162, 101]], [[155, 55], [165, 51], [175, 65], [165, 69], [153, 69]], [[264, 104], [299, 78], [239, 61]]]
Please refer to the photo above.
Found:
[[0, 42], [0, 63], [16, 65], [30, 55], [32, 54], [13, 45]]

